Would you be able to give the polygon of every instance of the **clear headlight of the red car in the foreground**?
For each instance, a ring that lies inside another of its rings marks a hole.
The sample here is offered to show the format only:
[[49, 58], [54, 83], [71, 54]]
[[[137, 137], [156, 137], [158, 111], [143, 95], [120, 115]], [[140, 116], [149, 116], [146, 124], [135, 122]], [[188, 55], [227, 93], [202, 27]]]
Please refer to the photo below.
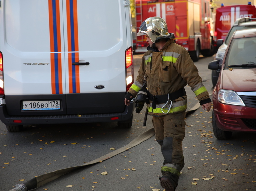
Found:
[[218, 101], [223, 104], [245, 106], [243, 100], [239, 97], [239, 95], [232, 90], [219, 90]]

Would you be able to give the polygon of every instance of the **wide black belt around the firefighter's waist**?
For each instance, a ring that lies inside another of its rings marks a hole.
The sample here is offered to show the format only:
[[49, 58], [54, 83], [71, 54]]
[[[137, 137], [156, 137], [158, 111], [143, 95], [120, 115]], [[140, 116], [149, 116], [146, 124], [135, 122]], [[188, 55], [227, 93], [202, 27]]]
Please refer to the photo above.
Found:
[[156, 104], [166, 103], [167, 101], [173, 101], [175, 99], [178, 99], [181, 96], [186, 95], [185, 88], [181, 88], [173, 93], [169, 93], [166, 95], [153, 95], [148, 91], [149, 100], [152, 101], [152, 108], [156, 108]]

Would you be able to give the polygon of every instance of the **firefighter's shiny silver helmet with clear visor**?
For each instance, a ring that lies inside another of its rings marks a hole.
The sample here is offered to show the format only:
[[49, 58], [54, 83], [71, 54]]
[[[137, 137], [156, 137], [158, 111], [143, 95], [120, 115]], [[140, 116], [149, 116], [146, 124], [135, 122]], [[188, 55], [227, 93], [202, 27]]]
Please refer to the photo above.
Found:
[[137, 36], [140, 35], [148, 35], [151, 41], [155, 43], [159, 39], [169, 36], [167, 24], [160, 17], [149, 17], [140, 25]]

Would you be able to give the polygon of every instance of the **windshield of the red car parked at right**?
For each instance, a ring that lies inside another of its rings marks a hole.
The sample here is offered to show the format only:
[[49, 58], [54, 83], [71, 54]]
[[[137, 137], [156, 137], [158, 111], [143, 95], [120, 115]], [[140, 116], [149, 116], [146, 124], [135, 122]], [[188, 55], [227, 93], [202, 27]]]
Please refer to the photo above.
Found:
[[225, 63], [227, 67], [256, 67], [256, 37], [233, 39]]

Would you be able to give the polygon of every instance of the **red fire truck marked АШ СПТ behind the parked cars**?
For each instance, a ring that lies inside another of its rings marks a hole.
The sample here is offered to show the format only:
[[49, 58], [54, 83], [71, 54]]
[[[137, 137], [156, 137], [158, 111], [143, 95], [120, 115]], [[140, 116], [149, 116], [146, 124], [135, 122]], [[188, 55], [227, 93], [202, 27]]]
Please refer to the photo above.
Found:
[[215, 16], [215, 36], [217, 39], [225, 39], [231, 26], [237, 18], [256, 17], [256, 7], [248, 2], [248, 5], [230, 5], [216, 9]]

